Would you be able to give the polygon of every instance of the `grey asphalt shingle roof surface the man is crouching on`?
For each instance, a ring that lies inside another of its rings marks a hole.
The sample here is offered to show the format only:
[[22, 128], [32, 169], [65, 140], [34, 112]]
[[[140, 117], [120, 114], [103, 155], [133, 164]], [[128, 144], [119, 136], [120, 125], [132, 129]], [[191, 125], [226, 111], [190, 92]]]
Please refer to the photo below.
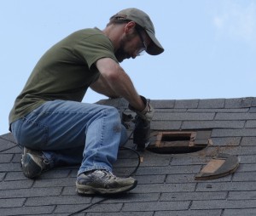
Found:
[[[101, 104], [126, 111], [122, 99]], [[0, 137], [0, 215], [129, 215], [241, 216], [256, 215], [256, 98], [152, 100], [151, 128], [156, 131], [210, 130], [212, 145], [188, 154], [141, 153], [138, 185], [123, 196], [79, 196], [78, 166], [55, 168], [39, 179], [26, 179], [20, 169], [20, 148], [11, 134]], [[129, 112], [127, 110], [127, 112]], [[132, 145], [130, 140], [127, 145]], [[195, 180], [218, 153], [238, 156], [235, 173]], [[120, 151], [118, 176], [131, 173], [137, 156]], [[99, 202], [99, 203], [96, 203]], [[91, 206], [92, 204], [95, 205]]]

